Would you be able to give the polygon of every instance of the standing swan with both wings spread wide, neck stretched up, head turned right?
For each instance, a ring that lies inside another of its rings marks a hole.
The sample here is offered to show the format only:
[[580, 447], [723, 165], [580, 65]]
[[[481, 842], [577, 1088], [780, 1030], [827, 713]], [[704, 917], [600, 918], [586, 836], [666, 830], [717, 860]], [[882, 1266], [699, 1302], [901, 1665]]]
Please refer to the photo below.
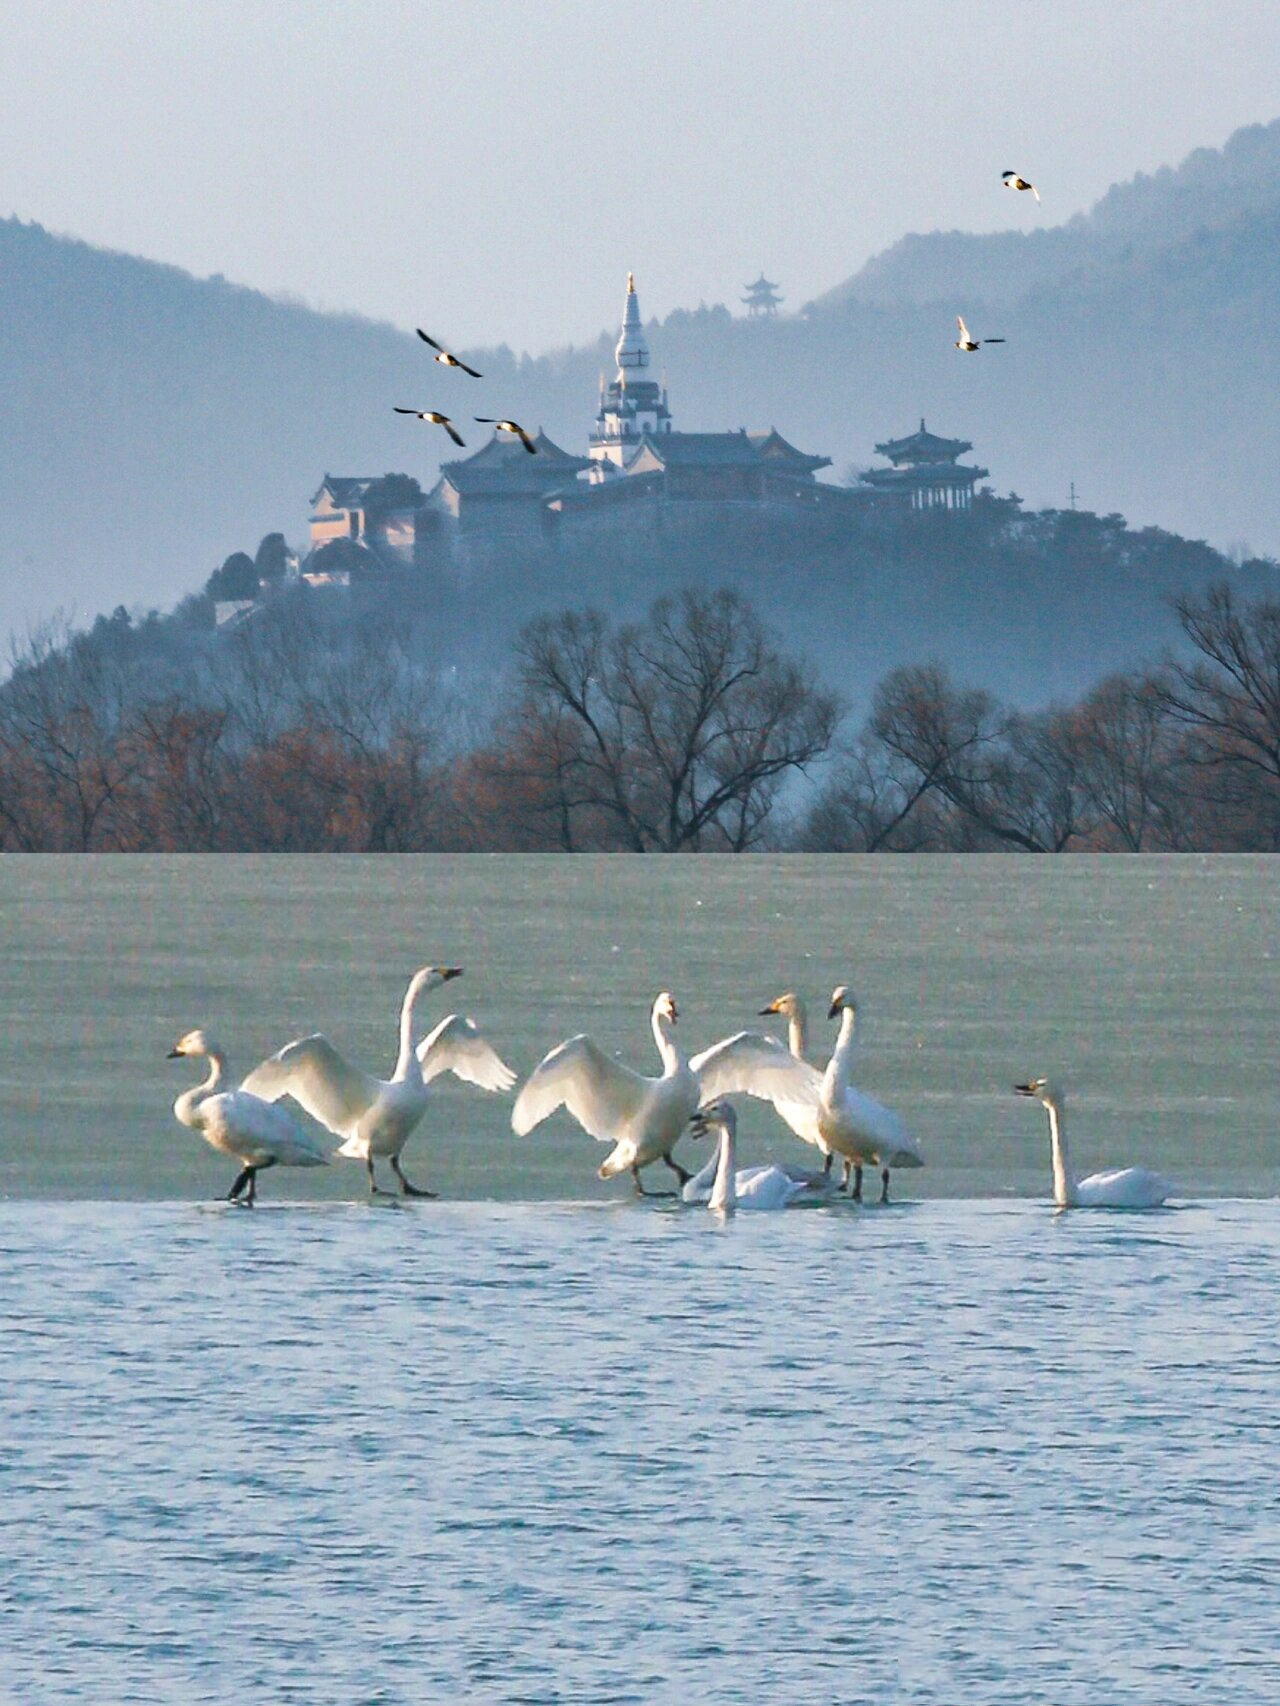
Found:
[[345, 1140], [338, 1155], [365, 1163], [374, 1196], [387, 1194], [374, 1177], [374, 1162], [382, 1158], [391, 1162], [404, 1196], [435, 1196], [433, 1191], [410, 1184], [399, 1165], [399, 1152], [427, 1111], [432, 1078], [452, 1071], [481, 1090], [509, 1090], [515, 1083], [515, 1073], [485, 1042], [471, 1020], [457, 1013], [440, 1020], [415, 1049], [413, 1010], [418, 996], [461, 976], [457, 966], [423, 966], [413, 974], [399, 1010], [399, 1056], [391, 1078], [372, 1078], [358, 1071], [317, 1032], [314, 1037], [299, 1037], [254, 1066], [244, 1088], [268, 1102], [282, 1095], [300, 1102], [314, 1119]]

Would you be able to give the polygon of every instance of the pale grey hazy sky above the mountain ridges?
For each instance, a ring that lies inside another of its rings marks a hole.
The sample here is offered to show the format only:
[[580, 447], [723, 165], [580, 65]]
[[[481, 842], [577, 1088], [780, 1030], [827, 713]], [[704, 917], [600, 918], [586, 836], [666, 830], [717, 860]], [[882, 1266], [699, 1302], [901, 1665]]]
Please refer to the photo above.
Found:
[[538, 351], [1056, 223], [1280, 114], [1280, 0], [0, 0], [0, 213]]

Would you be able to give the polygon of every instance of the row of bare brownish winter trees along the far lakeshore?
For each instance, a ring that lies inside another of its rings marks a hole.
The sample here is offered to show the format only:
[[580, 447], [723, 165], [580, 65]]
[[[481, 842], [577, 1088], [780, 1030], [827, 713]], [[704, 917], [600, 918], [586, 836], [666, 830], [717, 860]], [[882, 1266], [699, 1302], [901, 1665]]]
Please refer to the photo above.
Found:
[[538, 618], [461, 679], [411, 623], [283, 594], [183, 636], [116, 611], [14, 647], [5, 851], [1280, 850], [1280, 601], [1044, 711], [939, 664], [852, 725], [736, 592]]

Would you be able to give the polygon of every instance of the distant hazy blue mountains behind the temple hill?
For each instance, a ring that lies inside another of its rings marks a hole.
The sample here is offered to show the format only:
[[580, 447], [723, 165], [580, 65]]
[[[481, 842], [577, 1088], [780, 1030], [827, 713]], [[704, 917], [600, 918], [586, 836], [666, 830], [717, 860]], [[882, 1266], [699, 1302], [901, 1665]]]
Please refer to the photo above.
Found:
[[[797, 314], [712, 307], [652, 326], [676, 426], [777, 425], [838, 473], [925, 416], [1029, 505], [1062, 507], [1075, 481], [1089, 510], [1280, 551], [1280, 123], [1056, 229], [1053, 186], [1041, 193], [1043, 232], [906, 237]], [[643, 302], [643, 256], [628, 259]], [[785, 256], [768, 270], [785, 292]], [[957, 310], [1009, 341], [961, 357]], [[0, 631], [53, 609], [172, 606], [265, 532], [300, 541], [326, 471], [428, 485], [442, 444], [393, 404], [510, 413], [582, 449], [616, 336], [539, 358], [481, 351], [474, 384], [411, 333], [17, 220], [0, 222]], [[437, 329], [464, 345], [464, 328]], [[930, 601], [913, 606], [927, 623]], [[916, 652], [939, 640], [922, 628]]]

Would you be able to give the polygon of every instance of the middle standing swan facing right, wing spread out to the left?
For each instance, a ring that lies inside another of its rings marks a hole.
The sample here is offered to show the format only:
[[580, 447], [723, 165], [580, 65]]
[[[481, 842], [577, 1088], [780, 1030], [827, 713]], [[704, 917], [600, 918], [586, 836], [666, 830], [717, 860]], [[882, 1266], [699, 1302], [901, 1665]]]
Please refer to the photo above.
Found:
[[515, 1097], [510, 1123], [524, 1136], [558, 1107], [567, 1107], [584, 1131], [613, 1143], [599, 1177], [630, 1172], [642, 1196], [640, 1169], [664, 1160], [681, 1184], [689, 1174], [671, 1152], [701, 1100], [698, 1078], [671, 1037], [678, 1018], [676, 998], [664, 989], [654, 1001], [650, 1022], [662, 1056], [662, 1075], [645, 1078], [620, 1066], [587, 1036], [570, 1037], [534, 1066]]

